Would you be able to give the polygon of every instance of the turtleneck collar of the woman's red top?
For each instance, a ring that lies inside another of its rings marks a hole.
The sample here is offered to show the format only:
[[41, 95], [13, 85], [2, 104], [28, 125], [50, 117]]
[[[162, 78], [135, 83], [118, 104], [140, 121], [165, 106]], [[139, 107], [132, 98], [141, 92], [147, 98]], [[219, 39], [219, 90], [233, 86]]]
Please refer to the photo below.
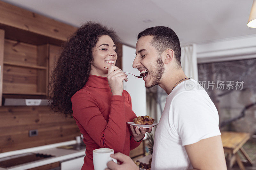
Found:
[[100, 89], [110, 89], [108, 85], [108, 78], [101, 77], [98, 75], [92, 75], [92, 74], [89, 75], [86, 85], [90, 87], [100, 88]]

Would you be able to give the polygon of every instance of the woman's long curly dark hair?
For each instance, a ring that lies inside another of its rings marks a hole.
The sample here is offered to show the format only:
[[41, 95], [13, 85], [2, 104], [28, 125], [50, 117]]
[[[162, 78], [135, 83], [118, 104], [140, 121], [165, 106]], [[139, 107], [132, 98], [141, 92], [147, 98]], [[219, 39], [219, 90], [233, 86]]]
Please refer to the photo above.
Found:
[[72, 117], [71, 97], [88, 80], [93, 61], [92, 49], [100, 36], [108, 35], [116, 43], [116, 32], [105, 25], [87, 22], [68, 39], [55, 63], [50, 82], [50, 108]]

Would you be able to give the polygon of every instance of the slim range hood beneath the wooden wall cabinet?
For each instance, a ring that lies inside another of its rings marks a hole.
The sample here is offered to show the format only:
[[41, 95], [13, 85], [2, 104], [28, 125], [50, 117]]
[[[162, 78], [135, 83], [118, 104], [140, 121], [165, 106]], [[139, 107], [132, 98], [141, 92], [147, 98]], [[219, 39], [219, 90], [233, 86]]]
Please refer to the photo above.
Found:
[[49, 106], [49, 99], [45, 96], [3, 95], [3, 106]]

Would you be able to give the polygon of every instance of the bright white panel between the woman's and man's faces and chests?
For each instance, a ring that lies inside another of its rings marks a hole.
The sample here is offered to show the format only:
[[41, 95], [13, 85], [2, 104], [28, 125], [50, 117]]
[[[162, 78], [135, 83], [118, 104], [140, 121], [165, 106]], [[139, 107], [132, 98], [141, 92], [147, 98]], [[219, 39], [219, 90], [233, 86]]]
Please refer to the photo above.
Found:
[[[138, 69], [132, 67], [135, 58], [135, 48], [123, 45], [123, 71], [140, 75]], [[137, 116], [147, 115], [146, 110], [146, 88], [143, 78], [128, 75], [128, 81], [124, 81], [124, 90], [132, 97], [132, 110]]]

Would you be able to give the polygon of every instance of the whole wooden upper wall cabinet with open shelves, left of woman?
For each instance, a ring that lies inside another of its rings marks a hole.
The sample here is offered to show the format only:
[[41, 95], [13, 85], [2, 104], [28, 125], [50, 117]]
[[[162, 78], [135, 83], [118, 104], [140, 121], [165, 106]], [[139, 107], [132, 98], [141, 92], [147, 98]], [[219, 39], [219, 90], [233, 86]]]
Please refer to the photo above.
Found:
[[0, 1], [0, 106], [2, 96], [48, 96], [53, 61], [76, 29]]

